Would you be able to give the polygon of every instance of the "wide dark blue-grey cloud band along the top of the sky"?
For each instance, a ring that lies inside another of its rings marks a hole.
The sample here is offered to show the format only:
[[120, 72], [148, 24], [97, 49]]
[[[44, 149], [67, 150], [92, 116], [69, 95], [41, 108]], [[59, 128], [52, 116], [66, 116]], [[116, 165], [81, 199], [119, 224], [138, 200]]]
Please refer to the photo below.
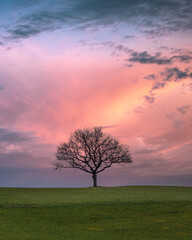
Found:
[[[20, 39], [71, 26], [98, 28], [120, 22], [134, 25], [148, 35], [191, 30], [192, 2], [172, 0], [18, 1], [15, 18], [4, 25], [9, 38]], [[23, 10], [23, 11], [22, 11]], [[128, 35], [129, 36], [129, 35]]]

